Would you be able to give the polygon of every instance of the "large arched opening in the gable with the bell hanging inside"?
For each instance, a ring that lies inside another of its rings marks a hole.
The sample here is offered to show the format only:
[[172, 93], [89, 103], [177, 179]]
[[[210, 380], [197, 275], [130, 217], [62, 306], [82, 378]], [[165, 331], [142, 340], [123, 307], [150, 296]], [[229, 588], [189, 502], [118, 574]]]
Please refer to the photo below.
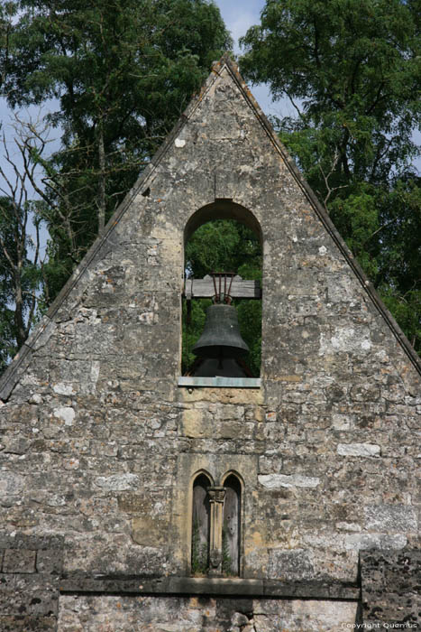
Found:
[[188, 220], [184, 376], [260, 376], [261, 268], [261, 228], [250, 210], [218, 200]]

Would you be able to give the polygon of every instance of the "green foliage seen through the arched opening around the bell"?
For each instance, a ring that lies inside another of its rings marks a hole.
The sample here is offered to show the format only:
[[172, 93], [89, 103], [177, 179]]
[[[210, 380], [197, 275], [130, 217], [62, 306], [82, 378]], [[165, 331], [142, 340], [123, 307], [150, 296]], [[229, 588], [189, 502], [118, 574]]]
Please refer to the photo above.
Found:
[[[234, 272], [243, 279], [261, 281], [261, 244], [258, 237], [243, 224], [232, 219], [217, 219], [203, 224], [186, 245], [186, 269], [190, 276], [201, 279], [212, 272]], [[206, 321], [210, 299], [197, 299], [183, 304], [183, 375], [193, 366], [196, 356], [191, 349], [200, 338]], [[245, 361], [253, 376], [261, 371], [261, 301], [247, 299], [233, 302], [237, 309], [240, 332], [250, 353]]]

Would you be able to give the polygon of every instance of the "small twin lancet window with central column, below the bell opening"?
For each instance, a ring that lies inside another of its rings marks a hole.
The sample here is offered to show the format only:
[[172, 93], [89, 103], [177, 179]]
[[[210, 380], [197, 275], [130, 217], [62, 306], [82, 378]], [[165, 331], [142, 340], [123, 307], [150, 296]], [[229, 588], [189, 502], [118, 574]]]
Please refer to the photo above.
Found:
[[219, 577], [240, 574], [242, 486], [229, 474], [213, 486], [204, 473], [193, 483], [191, 572]]

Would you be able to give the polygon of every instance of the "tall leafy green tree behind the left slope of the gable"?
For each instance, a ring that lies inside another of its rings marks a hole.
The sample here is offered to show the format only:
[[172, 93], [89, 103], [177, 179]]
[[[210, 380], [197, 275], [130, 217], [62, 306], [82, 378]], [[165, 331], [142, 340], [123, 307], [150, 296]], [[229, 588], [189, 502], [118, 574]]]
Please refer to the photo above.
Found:
[[[57, 212], [45, 209], [52, 299], [231, 40], [207, 0], [19, 7], [4, 94], [12, 106], [58, 99], [49, 122], [64, 133], [61, 150], [41, 162], [56, 183], [48, 192]], [[70, 219], [69, 205], [78, 209]]]

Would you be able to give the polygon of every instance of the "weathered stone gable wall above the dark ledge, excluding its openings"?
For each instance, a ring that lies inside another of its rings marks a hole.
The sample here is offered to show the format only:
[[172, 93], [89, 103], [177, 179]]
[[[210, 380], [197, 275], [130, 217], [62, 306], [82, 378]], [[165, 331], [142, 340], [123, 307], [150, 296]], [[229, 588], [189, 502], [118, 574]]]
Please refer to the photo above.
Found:
[[[262, 386], [190, 392], [184, 229], [227, 199], [261, 226]], [[419, 376], [225, 66], [30, 344], [1, 519], [64, 536], [66, 572], [188, 574], [198, 469], [245, 482], [246, 578], [356, 581], [360, 549], [419, 546]]]

